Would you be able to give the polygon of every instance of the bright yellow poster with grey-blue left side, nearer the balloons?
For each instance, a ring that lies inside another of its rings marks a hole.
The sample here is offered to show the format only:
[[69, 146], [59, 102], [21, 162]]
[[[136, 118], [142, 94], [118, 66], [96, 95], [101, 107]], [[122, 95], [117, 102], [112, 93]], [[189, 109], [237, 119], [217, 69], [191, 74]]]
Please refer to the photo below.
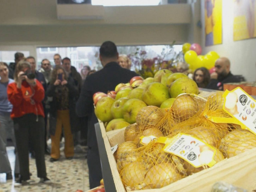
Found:
[[204, 0], [205, 46], [222, 44], [222, 0]]

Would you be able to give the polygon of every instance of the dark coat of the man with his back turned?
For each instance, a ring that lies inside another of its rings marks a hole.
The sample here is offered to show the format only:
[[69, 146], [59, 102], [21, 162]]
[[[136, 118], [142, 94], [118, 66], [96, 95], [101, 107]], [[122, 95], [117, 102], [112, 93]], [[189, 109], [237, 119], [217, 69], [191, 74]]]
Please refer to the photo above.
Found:
[[78, 116], [88, 116], [88, 147], [97, 147], [94, 124], [98, 122], [94, 114], [92, 96], [96, 92], [115, 90], [119, 83], [128, 83], [134, 76], [138, 76], [134, 71], [124, 69], [116, 62], [110, 62], [104, 68], [90, 76], [87, 76], [82, 86], [80, 97], [76, 103]]

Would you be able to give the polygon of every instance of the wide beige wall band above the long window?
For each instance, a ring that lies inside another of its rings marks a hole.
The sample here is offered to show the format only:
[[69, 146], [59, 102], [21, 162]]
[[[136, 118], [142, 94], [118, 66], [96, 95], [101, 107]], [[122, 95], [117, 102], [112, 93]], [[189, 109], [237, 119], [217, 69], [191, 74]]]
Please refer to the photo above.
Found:
[[[101, 20], [58, 20], [56, 0], [4, 0], [0, 8], [0, 46], [182, 44], [191, 19], [190, 4], [104, 7]], [[82, 16], [86, 7], [65, 12]]]

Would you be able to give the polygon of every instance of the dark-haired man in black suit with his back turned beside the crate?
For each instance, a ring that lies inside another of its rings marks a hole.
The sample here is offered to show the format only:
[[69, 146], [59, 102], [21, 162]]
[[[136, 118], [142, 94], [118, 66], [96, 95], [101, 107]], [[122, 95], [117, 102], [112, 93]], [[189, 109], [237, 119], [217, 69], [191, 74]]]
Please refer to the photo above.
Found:
[[[133, 71], [124, 69], [117, 63], [118, 52], [113, 42], [106, 41], [100, 46], [100, 61], [103, 69], [91, 74], [86, 78], [82, 86], [80, 97], [76, 103], [78, 116], [88, 116], [88, 156], [90, 188], [100, 185], [102, 179], [100, 157], [94, 124], [98, 122], [94, 114], [92, 96], [96, 92], [114, 90], [119, 83], [127, 83], [134, 76], [138, 76]], [[107, 161], [107, 160], [106, 160]]]

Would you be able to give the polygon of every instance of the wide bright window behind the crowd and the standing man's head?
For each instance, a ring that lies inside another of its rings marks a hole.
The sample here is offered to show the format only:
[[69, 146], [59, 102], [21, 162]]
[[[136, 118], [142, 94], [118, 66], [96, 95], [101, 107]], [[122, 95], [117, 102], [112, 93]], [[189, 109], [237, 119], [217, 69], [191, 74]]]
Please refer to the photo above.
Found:
[[[47, 49], [47, 50], [46, 50]], [[52, 66], [54, 66], [54, 54], [56, 52], [51, 52], [52, 50], [57, 50], [58, 54], [62, 58], [68, 57], [71, 60], [71, 65], [76, 67], [78, 72], [81, 71], [83, 66], [88, 65], [91, 69], [100, 70], [102, 68], [100, 59], [99, 59], [99, 49], [98, 46], [88, 46], [88, 47], [55, 47], [55, 48], [37, 48], [37, 63], [38, 67], [40, 66], [41, 61], [44, 58], [50, 60]], [[45, 50], [45, 51], [42, 51]], [[150, 59], [161, 57], [163, 60], [170, 60], [176, 57], [182, 51], [182, 45], [174, 45], [170, 49], [170, 46], [166, 45], [154, 45], [154, 46], [118, 46], [117, 50], [119, 54], [126, 54], [133, 58], [137, 56], [141, 59]], [[145, 52], [146, 54], [140, 55], [136, 52]], [[138, 62], [138, 60], [136, 60]], [[136, 63], [132, 63], [132, 70], [137, 68]]]

